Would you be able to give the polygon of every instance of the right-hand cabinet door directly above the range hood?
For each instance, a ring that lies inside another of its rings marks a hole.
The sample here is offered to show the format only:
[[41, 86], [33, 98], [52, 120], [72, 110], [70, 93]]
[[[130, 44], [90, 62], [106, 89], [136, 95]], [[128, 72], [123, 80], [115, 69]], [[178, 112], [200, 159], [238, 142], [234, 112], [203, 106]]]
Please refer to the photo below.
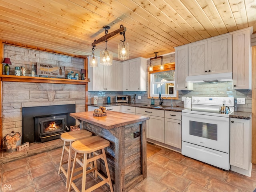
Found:
[[208, 40], [208, 74], [232, 72], [232, 35]]

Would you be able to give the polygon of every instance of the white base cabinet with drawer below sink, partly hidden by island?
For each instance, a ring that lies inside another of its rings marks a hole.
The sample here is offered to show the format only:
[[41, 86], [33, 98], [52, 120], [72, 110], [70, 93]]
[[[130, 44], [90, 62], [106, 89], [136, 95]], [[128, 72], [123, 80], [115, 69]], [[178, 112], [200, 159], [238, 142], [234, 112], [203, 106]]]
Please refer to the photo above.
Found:
[[136, 114], [148, 116], [147, 138], [164, 143], [164, 110], [136, 107]]

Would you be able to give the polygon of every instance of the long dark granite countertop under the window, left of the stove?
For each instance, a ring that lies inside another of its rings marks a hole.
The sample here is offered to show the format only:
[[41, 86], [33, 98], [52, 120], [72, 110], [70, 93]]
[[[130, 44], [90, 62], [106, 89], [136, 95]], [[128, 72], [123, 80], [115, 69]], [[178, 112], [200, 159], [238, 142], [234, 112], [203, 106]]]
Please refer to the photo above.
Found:
[[[97, 104], [97, 105], [88, 104], [88, 106], [94, 106], [94, 107], [100, 107], [100, 106], [107, 107], [107, 106], [118, 106], [118, 105], [165, 110], [165, 111], [176, 111], [176, 112], [181, 112], [183, 109], [186, 109], [184, 107], [179, 107], [179, 106], [171, 107], [166, 105], [163, 105], [162, 108], [158, 108], [158, 107], [156, 108], [156, 107], [147, 106], [149, 104], [142, 104], [142, 103], [110, 103], [110, 104], [104, 103], [104, 104]], [[154, 105], [154, 106], [159, 106], [159, 105]]]

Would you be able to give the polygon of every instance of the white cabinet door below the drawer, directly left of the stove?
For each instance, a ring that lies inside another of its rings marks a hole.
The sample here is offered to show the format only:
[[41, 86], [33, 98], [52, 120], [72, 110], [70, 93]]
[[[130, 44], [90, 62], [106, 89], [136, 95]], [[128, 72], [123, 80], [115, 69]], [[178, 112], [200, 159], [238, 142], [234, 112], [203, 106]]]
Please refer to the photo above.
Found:
[[181, 149], [180, 120], [165, 118], [165, 144]]

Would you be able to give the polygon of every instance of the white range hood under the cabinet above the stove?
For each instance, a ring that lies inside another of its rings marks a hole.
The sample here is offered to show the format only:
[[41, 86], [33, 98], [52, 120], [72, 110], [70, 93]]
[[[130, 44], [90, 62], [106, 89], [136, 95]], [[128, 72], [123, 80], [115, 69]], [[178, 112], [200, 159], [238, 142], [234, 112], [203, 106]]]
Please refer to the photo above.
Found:
[[186, 77], [186, 82], [193, 82], [193, 83], [219, 82], [219, 81], [232, 81], [232, 72], [207, 74], [207, 75], [194, 75], [194, 76]]

